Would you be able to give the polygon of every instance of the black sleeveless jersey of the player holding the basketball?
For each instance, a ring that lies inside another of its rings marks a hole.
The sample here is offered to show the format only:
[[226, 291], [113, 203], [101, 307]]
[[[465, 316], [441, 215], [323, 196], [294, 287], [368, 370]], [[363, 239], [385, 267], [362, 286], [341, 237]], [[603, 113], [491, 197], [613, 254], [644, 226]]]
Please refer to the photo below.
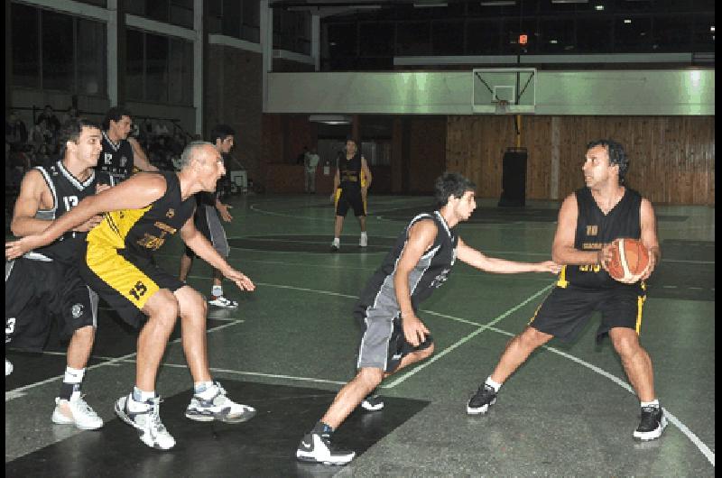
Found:
[[[574, 247], [579, 251], [599, 251], [617, 237], [639, 239], [642, 235], [642, 196], [634, 189], [625, 188], [625, 195], [606, 214], [597, 206], [589, 188], [580, 188], [575, 195], [579, 215]], [[565, 281], [585, 288], [634, 287], [634, 284], [612, 279], [598, 264], [564, 266], [560, 272], [560, 282], [563, 285]]]

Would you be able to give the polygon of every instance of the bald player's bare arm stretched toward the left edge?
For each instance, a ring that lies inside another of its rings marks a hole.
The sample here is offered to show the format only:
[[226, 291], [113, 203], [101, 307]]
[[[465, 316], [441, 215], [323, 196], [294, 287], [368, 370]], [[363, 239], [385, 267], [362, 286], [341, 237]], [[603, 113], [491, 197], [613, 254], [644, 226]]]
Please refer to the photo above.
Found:
[[88, 196], [78, 206], [51, 222], [40, 234], [31, 234], [5, 244], [5, 259], [15, 259], [51, 244], [65, 232], [86, 223], [93, 216], [119, 209], [146, 207], [165, 193], [165, 179], [157, 174], [138, 174], [115, 188]]

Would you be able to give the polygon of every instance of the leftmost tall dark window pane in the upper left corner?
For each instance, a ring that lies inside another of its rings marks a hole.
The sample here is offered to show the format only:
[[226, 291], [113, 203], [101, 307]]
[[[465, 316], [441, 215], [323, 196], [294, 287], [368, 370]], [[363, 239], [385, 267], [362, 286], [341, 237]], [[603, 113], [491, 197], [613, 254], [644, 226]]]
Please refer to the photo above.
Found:
[[38, 10], [32, 6], [11, 5], [13, 42], [13, 84], [40, 87], [40, 45]]

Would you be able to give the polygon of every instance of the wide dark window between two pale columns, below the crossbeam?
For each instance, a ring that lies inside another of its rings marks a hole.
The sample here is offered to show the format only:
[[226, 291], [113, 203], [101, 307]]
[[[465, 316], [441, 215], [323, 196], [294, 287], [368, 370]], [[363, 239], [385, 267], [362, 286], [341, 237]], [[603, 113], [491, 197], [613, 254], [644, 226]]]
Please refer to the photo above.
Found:
[[192, 43], [130, 28], [126, 32], [126, 97], [153, 103], [192, 105]]

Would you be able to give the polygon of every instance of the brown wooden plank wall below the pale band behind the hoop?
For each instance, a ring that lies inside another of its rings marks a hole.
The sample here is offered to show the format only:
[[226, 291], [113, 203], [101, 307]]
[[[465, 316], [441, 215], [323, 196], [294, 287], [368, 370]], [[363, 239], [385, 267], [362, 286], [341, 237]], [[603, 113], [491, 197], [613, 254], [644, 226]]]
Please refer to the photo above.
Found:
[[[502, 158], [515, 145], [514, 116], [449, 115], [446, 160], [477, 182], [477, 195], [498, 198]], [[715, 204], [714, 116], [522, 116], [528, 150], [526, 197], [563, 199], [583, 186], [587, 142], [625, 146], [630, 187], [654, 203]]]

